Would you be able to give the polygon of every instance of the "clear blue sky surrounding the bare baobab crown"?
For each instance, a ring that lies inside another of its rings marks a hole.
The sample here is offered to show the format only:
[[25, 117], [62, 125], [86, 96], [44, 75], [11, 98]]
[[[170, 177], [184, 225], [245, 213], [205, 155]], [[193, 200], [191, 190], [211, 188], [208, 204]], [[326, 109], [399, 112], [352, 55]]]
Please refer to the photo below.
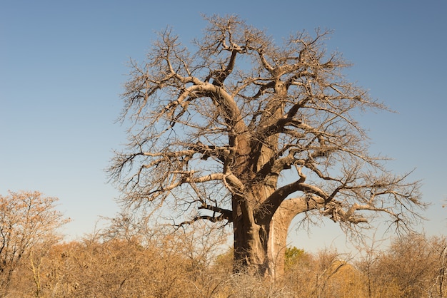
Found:
[[[414, 170], [431, 207], [420, 229], [446, 235], [447, 1], [0, 1], [0, 194], [39, 190], [59, 197], [67, 238], [92, 232], [119, 211], [104, 169], [126, 142], [116, 123], [130, 58], [143, 61], [156, 32], [184, 43], [200, 37], [202, 15], [236, 14], [275, 40], [331, 29], [350, 81], [398, 113], [358, 119], [371, 152]], [[327, 222], [291, 242], [316, 250], [344, 241]], [[344, 243], [344, 242], [343, 242]]]

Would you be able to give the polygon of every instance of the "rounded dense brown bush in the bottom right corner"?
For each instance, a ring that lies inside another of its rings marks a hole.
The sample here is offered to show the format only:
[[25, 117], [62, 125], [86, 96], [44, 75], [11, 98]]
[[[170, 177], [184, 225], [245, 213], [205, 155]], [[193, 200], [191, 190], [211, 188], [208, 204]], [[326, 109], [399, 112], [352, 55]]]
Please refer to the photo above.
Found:
[[[376, 255], [371, 267], [371, 297], [445, 297], [446, 238], [408, 235]], [[365, 269], [365, 263], [359, 268]]]

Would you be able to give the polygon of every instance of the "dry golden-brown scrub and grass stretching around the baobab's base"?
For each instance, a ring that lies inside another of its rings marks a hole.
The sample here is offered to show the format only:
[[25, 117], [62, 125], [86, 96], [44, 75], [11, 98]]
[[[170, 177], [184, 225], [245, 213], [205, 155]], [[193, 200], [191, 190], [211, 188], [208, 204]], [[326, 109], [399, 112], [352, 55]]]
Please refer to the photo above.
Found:
[[357, 255], [287, 247], [275, 280], [234, 272], [224, 230], [199, 222], [173, 230], [121, 216], [76, 241], [41, 240], [1, 269], [1, 297], [447, 297], [446, 237], [396, 237]]

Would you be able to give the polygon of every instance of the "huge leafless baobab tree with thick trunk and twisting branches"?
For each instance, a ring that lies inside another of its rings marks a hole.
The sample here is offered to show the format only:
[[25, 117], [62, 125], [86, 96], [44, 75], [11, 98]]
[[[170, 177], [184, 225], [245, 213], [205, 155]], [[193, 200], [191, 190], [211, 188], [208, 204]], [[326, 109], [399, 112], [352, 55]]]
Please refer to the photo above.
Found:
[[378, 213], [404, 229], [418, 220], [418, 182], [368, 153], [353, 118], [387, 108], [346, 81], [329, 31], [277, 45], [237, 16], [206, 19], [194, 53], [166, 29], [144, 63], [131, 61], [129, 143], [109, 168], [125, 202], [191, 216], [178, 225], [230, 223], [235, 268], [273, 277], [296, 215], [348, 230]]

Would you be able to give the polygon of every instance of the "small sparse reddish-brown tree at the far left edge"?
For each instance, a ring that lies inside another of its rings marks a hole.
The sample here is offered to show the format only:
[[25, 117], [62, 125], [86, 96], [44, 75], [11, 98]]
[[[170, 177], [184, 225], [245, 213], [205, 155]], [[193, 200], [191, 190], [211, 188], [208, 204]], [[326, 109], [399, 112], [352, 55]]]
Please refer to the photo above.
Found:
[[57, 229], [69, 221], [55, 210], [57, 200], [36, 191], [0, 195], [1, 297], [9, 292], [14, 271], [28, 256], [34, 270], [35, 291], [39, 293], [41, 258], [48, 247], [60, 240]]

